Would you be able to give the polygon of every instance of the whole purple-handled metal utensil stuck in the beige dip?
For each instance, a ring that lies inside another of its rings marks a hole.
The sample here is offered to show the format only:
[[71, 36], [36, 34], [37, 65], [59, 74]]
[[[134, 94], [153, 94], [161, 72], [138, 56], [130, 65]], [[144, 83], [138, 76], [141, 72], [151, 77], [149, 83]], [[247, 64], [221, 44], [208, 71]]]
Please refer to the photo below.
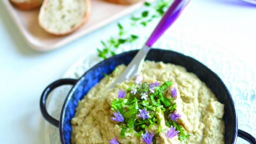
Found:
[[172, 25], [172, 23], [178, 18], [182, 10], [190, 0], [175, 0], [167, 12], [164, 14], [150, 37], [148, 38], [146, 44], [138, 51], [136, 56], [132, 59], [127, 68], [122, 72], [118, 78], [110, 85], [109, 88], [114, 88], [117, 83], [129, 80], [130, 78], [136, 76], [140, 73], [142, 65], [150, 50], [150, 47], [158, 40], [160, 36]]

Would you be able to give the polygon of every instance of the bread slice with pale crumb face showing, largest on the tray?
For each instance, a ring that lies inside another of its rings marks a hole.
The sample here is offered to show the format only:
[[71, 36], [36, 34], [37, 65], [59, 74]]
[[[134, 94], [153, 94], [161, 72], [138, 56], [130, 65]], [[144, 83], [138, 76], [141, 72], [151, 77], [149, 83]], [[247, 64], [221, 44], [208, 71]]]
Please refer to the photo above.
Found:
[[45, 0], [38, 22], [46, 32], [61, 36], [82, 26], [89, 18], [90, 9], [90, 0]]

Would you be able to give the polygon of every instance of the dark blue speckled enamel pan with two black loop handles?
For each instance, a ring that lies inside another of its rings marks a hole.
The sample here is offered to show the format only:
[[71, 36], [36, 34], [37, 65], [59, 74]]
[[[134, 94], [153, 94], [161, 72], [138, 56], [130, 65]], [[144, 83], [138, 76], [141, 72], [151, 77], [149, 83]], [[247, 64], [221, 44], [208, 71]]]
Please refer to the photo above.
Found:
[[[138, 50], [134, 50], [112, 56], [111, 58], [96, 64], [86, 73], [84, 73], [84, 75], [78, 80], [60, 79], [46, 87], [40, 99], [40, 109], [43, 117], [48, 122], [60, 129], [60, 140], [62, 144], [71, 143], [71, 119], [75, 115], [78, 101], [84, 98], [90, 88], [100, 82], [100, 80], [104, 77], [104, 74], [110, 74], [114, 68], [120, 64], [128, 65], [137, 52]], [[237, 136], [239, 136], [251, 144], [256, 144], [256, 139], [252, 135], [242, 130], [238, 130], [238, 121], [234, 101], [232, 100], [230, 92], [226, 88], [225, 84], [217, 76], [217, 74], [212, 72], [212, 70], [194, 58], [171, 50], [151, 49], [146, 57], [146, 60], [153, 60], [156, 62], [162, 61], [164, 63], [184, 66], [188, 72], [193, 72], [196, 74], [198, 78], [205, 82], [212, 92], [214, 92], [218, 100], [222, 104], [225, 104], [225, 114], [223, 117], [225, 122], [225, 143], [235, 144]], [[58, 121], [48, 114], [45, 104], [49, 93], [54, 90], [54, 88], [67, 84], [73, 85], [73, 87], [66, 97], [62, 107], [62, 112], [60, 114], [60, 121]]]

